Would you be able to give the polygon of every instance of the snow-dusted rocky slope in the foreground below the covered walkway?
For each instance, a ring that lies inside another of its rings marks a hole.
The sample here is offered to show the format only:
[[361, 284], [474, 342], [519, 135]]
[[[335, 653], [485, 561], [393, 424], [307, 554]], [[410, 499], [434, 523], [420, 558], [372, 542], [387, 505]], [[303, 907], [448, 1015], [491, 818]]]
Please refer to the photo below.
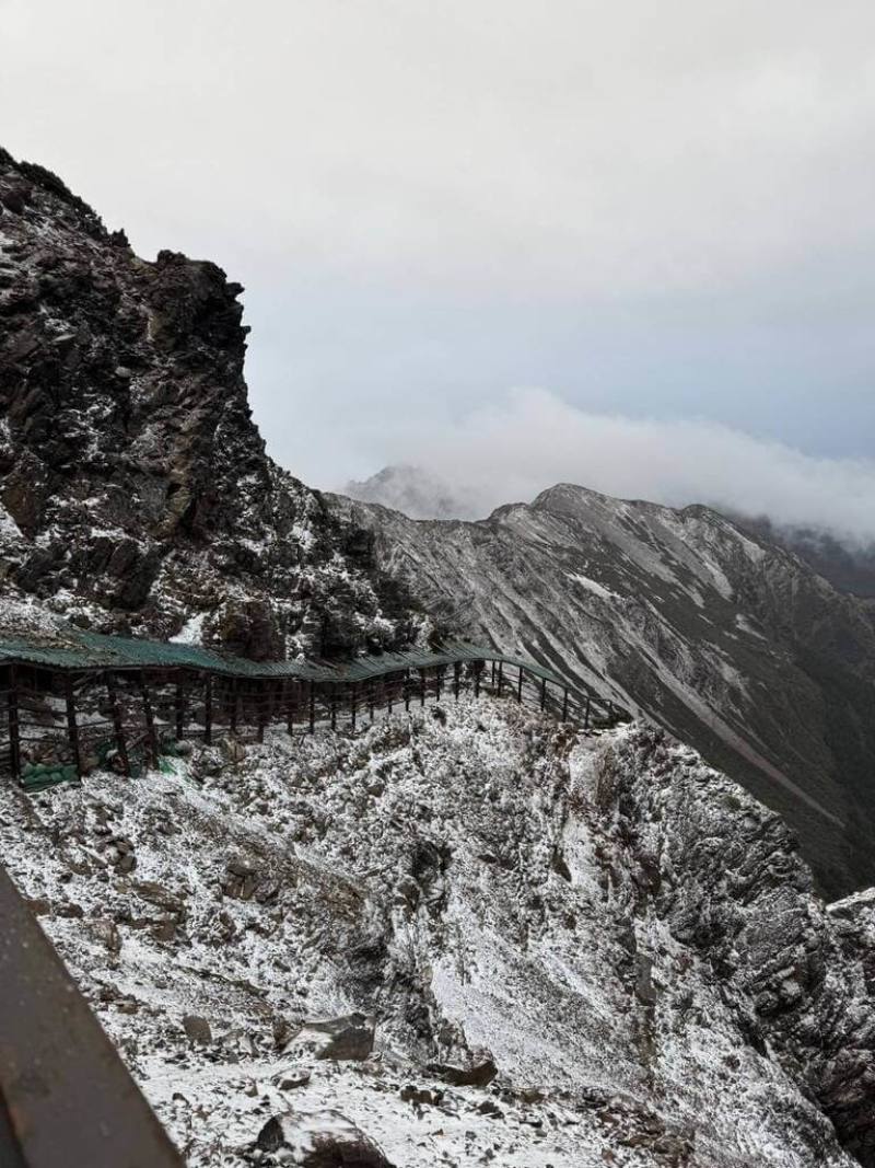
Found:
[[658, 731], [467, 700], [4, 786], [0, 842], [192, 1168], [280, 1162], [273, 1118], [404, 1168], [875, 1164], [873, 901]]

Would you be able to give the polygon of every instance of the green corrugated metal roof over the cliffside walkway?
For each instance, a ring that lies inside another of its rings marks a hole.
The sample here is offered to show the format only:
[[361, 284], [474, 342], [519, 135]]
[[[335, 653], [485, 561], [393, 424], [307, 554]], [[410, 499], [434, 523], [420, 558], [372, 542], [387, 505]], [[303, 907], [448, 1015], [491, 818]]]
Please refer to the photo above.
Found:
[[542, 666], [497, 649], [450, 641], [436, 649], [411, 648], [402, 653], [376, 653], [342, 663], [321, 661], [250, 661], [196, 645], [108, 637], [72, 626], [57, 637], [10, 637], [0, 633], [0, 662], [21, 662], [57, 669], [186, 668], [243, 677], [299, 677], [304, 681], [366, 681], [401, 669], [424, 669], [457, 661], [503, 661], [565, 686], [567, 682]]

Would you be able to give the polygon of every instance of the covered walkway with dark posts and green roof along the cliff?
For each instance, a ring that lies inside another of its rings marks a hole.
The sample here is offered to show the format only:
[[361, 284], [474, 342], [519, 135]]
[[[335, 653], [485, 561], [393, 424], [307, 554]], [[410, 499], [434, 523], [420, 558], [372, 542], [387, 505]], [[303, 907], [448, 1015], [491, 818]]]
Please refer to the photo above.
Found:
[[70, 630], [0, 640], [0, 769], [29, 790], [99, 767], [135, 776], [183, 741], [261, 741], [270, 726], [354, 731], [462, 694], [517, 701], [584, 729], [625, 717], [533, 661], [467, 641], [340, 665], [257, 662]]

